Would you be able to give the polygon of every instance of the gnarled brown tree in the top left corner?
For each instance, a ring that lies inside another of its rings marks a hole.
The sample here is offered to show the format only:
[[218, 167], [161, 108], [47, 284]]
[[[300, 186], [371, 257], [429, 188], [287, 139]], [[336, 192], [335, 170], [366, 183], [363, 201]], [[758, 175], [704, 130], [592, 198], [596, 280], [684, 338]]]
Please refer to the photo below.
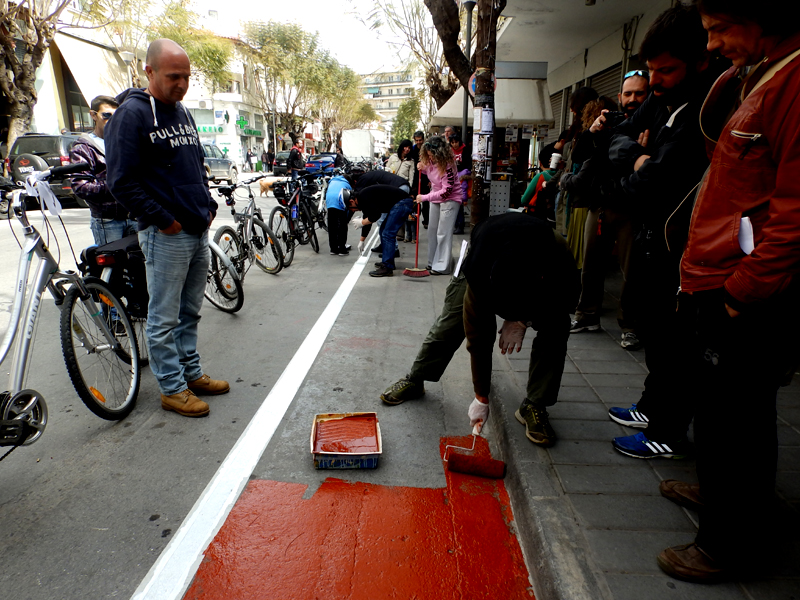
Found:
[[9, 104], [8, 148], [28, 131], [36, 106], [36, 70], [56, 35], [69, 0], [0, 4], [0, 92]]

